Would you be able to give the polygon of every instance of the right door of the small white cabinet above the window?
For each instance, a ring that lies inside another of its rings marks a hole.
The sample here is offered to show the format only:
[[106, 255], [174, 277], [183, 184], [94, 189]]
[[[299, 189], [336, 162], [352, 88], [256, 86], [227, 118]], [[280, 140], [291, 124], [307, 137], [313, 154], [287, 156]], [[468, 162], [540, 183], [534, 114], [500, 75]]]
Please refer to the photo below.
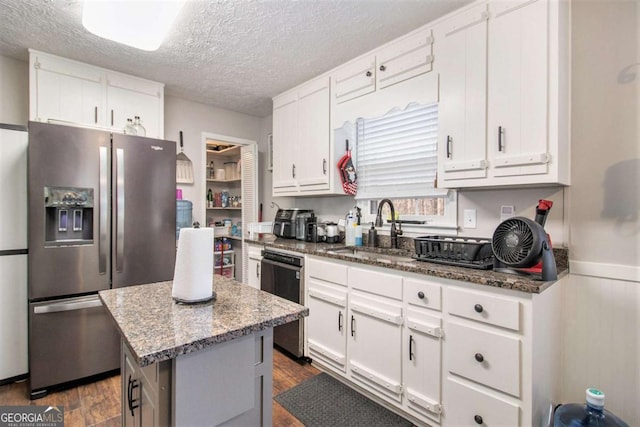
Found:
[[382, 89], [431, 71], [431, 30], [423, 30], [382, 49], [377, 57], [377, 88]]

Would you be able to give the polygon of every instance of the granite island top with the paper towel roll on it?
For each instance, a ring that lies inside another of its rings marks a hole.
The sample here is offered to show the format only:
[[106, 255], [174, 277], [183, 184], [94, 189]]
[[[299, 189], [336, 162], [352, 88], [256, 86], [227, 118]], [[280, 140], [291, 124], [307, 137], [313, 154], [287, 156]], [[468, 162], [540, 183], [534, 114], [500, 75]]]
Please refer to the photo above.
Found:
[[100, 291], [100, 299], [140, 366], [174, 359], [217, 343], [309, 315], [309, 309], [215, 276], [215, 301], [178, 304], [172, 282]]

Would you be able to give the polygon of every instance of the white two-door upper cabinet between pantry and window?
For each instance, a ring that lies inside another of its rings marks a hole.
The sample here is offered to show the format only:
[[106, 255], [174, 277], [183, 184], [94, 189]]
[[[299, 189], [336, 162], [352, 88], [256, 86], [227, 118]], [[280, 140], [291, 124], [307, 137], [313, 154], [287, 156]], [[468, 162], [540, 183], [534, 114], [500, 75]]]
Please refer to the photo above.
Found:
[[329, 190], [329, 90], [329, 77], [321, 77], [274, 98], [274, 195]]

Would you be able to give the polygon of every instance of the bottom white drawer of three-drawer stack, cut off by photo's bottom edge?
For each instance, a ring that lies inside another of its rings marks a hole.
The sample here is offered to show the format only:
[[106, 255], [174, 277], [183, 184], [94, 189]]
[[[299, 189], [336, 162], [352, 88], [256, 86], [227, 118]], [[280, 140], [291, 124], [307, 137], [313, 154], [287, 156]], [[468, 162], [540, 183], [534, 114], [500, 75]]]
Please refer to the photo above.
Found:
[[456, 427], [518, 427], [520, 407], [488, 394], [447, 380], [445, 384], [445, 425]]

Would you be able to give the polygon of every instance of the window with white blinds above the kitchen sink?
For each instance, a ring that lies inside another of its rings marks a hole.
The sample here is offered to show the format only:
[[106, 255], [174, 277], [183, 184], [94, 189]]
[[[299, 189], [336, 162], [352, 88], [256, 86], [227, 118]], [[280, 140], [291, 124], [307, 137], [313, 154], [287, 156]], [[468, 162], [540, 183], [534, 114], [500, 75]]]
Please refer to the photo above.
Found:
[[[356, 199], [365, 221], [375, 220], [378, 203], [388, 198], [396, 219], [411, 221], [403, 226], [409, 231], [456, 228], [455, 191], [435, 188], [437, 104], [409, 104], [404, 110], [394, 109], [382, 117], [358, 119], [356, 136]], [[383, 219], [390, 219], [386, 205], [382, 212]]]

